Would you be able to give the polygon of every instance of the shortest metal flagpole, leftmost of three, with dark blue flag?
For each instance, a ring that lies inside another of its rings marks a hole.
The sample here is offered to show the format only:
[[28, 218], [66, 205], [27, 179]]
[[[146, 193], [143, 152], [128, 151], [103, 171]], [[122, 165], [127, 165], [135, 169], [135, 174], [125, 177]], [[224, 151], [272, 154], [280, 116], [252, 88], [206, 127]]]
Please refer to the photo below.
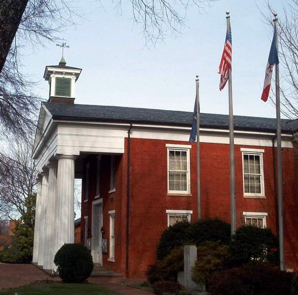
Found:
[[201, 177], [200, 177], [200, 98], [199, 76], [196, 76], [196, 112], [197, 112], [197, 206], [198, 220], [201, 219]]

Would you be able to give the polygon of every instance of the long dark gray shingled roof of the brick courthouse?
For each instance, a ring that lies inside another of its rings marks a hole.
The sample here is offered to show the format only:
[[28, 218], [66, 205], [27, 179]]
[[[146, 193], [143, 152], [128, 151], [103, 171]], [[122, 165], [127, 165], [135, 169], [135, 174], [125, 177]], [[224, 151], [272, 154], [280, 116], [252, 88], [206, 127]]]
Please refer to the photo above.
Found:
[[[44, 102], [43, 104], [50, 111], [54, 119], [62, 120], [157, 123], [191, 126], [193, 117], [192, 112], [182, 111], [81, 104], [59, 105], [49, 102]], [[200, 126], [227, 129], [229, 127], [228, 118], [228, 115], [201, 113]], [[276, 120], [275, 118], [234, 116], [234, 128], [236, 130], [275, 132]], [[293, 130], [298, 129], [298, 120], [282, 119], [281, 129], [284, 133], [292, 133]]]

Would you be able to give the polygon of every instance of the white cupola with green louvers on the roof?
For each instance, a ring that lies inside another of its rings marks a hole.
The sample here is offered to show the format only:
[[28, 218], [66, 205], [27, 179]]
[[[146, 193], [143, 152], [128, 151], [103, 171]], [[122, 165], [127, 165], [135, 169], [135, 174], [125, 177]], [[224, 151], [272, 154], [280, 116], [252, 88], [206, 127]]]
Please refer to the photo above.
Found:
[[49, 102], [57, 104], [74, 104], [75, 83], [82, 69], [67, 66], [62, 56], [59, 65], [47, 65], [43, 78], [49, 81]]

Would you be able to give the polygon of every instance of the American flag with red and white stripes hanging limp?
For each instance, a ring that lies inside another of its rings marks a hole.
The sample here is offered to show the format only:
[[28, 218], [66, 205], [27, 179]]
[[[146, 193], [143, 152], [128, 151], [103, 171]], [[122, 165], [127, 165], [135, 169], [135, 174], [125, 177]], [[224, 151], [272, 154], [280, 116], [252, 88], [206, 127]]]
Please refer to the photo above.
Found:
[[232, 33], [230, 21], [228, 21], [225, 47], [219, 64], [218, 73], [220, 74], [219, 90], [224, 89], [229, 80], [229, 69], [232, 69]]

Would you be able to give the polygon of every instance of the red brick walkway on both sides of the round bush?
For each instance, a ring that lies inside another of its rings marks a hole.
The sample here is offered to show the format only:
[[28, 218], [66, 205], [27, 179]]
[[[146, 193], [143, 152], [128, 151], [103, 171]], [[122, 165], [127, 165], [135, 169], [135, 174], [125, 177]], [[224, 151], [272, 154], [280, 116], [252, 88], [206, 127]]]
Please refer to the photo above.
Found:
[[[0, 264], [0, 290], [17, 288], [37, 281], [61, 281], [30, 264]], [[89, 277], [88, 282], [122, 295], [152, 295], [152, 293], [122, 285], [132, 280], [122, 277]]]

